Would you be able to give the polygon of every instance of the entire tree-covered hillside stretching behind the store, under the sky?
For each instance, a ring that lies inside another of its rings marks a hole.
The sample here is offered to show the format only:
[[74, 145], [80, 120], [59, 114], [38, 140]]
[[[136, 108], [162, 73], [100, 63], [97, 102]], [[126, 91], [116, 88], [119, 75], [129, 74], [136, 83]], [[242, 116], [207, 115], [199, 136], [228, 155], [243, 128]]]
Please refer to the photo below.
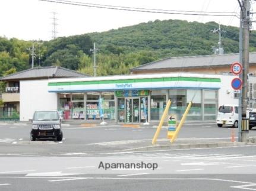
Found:
[[[238, 53], [239, 28], [221, 26], [225, 53]], [[211, 33], [216, 22], [181, 20], [150, 21], [103, 33], [89, 33], [36, 42], [35, 66], [62, 66], [93, 75], [93, 42], [97, 52], [97, 75], [128, 74], [131, 67], [169, 56], [213, 54], [219, 36]], [[0, 76], [28, 69], [32, 41], [0, 37]], [[256, 31], [251, 32], [250, 51], [256, 51]]]

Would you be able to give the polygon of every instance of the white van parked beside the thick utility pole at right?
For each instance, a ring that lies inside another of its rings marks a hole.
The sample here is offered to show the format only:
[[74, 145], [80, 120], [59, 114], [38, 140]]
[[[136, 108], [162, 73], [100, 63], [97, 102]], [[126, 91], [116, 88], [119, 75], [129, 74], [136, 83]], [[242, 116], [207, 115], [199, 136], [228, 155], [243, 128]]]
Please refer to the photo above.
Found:
[[238, 105], [219, 106], [216, 122], [218, 127], [232, 125], [233, 127], [238, 128]]

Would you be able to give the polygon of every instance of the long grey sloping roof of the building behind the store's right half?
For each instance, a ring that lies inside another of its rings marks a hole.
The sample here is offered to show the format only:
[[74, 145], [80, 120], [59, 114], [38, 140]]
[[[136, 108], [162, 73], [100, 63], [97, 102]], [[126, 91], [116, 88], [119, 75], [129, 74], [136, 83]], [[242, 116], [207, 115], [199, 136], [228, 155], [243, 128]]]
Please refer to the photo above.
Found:
[[[239, 61], [239, 53], [207, 56], [167, 57], [131, 69], [131, 72], [155, 69], [227, 66]], [[256, 63], [256, 52], [249, 54], [249, 63]]]

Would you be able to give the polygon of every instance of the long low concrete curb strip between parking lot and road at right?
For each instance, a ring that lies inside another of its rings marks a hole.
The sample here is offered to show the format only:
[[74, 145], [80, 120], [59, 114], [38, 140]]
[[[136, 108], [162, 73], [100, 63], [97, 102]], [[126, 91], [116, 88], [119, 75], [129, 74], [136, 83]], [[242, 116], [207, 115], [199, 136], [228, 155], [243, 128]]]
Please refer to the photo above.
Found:
[[240, 142], [220, 142], [220, 143], [195, 143], [195, 144], [176, 144], [176, 145], [151, 145], [148, 147], [128, 148], [123, 151], [154, 151], [159, 149], [189, 149], [189, 148], [218, 148], [218, 147], [236, 147], [242, 145], [256, 145], [254, 143]]

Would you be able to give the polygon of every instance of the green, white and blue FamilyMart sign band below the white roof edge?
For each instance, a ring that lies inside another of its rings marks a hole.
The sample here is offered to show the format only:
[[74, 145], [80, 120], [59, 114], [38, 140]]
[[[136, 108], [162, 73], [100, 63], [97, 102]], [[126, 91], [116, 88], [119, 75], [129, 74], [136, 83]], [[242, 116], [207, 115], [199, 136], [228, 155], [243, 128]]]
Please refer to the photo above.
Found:
[[90, 92], [104, 90], [198, 88], [219, 89], [220, 78], [207, 77], [154, 77], [144, 79], [86, 80], [49, 82], [48, 92]]

